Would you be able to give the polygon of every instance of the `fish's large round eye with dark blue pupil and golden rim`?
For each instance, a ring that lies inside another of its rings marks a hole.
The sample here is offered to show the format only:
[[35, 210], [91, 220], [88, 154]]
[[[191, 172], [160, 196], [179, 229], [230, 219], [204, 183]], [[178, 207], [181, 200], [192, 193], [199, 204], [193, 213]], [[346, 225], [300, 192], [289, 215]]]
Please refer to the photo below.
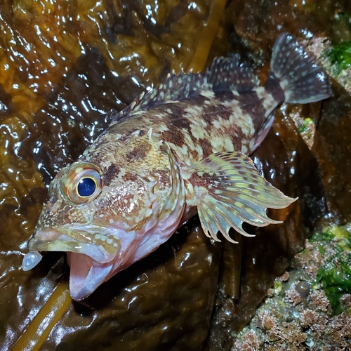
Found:
[[93, 164], [72, 164], [62, 174], [60, 190], [65, 199], [72, 204], [88, 204], [102, 190], [102, 172]]

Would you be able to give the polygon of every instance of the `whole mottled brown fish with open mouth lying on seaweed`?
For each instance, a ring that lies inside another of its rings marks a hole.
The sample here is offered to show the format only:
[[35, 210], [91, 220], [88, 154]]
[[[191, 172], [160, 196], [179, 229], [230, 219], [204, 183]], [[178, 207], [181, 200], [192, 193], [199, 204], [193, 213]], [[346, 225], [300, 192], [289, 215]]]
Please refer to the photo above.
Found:
[[58, 172], [22, 270], [38, 265], [41, 251], [64, 251], [69, 293], [82, 300], [196, 214], [214, 241], [235, 243], [231, 229], [252, 237], [244, 223], [281, 223], [267, 208], [296, 199], [267, 182], [249, 156], [282, 102], [329, 96], [323, 69], [288, 33], [272, 48], [264, 85], [237, 57], [216, 58], [204, 74], [169, 75]]

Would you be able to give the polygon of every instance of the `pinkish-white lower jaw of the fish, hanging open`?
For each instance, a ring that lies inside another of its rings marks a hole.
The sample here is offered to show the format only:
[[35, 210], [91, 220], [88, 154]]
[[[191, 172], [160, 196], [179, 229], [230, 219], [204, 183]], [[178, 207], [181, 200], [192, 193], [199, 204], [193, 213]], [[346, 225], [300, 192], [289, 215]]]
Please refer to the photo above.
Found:
[[82, 253], [67, 253], [69, 263], [69, 293], [73, 300], [80, 301], [93, 293], [107, 280], [112, 263], [96, 263]]

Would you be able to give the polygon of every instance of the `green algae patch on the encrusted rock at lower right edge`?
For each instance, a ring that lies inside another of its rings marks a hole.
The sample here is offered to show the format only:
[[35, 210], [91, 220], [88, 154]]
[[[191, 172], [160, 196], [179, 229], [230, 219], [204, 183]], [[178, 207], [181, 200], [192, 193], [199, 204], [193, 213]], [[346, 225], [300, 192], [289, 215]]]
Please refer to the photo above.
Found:
[[[333, 249], [327, 249], [326, 241], [336, 241]], [[322, 285], [331, 303], [333, 314], [343, 312], [340, 298], [351, 293], [351, 232], [350, 225], [331, 227], [318, 232], [310, 239], [319, 243], [319, 252], [324, 256], [324, 265], [319, 267], [316, 282]]]

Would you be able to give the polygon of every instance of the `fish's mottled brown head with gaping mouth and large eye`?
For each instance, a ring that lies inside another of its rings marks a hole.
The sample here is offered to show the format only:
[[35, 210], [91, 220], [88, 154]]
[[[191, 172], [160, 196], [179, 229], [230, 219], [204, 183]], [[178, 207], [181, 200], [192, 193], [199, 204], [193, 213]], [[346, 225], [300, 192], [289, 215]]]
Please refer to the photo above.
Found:
[[29, 240], [29, 254], [67, 253], [74, 300], [157, 249], [183, 215], [183, 178], [168, 146], [151, 131], [119, 139], [102, 135], [58, 173]]

